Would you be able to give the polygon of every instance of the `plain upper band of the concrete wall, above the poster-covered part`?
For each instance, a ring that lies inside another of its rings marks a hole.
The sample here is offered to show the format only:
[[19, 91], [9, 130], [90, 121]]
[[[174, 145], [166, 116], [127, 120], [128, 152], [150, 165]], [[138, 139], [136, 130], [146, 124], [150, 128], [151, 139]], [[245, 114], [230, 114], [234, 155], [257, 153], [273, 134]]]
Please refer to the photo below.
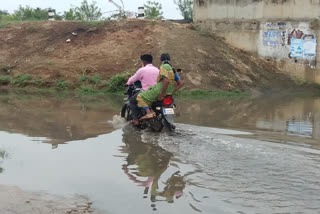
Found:
[[314, 19], [319, 0], [195, 0], [199, 19]]

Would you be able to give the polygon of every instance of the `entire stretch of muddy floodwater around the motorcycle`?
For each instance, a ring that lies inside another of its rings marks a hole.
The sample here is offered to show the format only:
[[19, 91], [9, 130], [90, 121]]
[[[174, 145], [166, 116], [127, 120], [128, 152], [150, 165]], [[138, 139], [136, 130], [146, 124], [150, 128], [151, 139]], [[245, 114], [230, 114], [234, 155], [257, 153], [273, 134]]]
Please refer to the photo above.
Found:
[[112, 214], [320, 213], [320, 98], [180, 99], [172, 134], [134, 129], [120, 107], [1, 91], [0, 185]]

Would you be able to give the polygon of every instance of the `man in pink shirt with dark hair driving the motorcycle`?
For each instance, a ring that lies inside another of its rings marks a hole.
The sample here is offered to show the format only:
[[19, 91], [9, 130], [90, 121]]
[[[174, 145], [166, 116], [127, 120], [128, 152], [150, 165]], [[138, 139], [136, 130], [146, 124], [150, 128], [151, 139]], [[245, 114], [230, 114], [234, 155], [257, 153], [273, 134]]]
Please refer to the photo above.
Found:
[[142, 90], [146, 91], [150, 86], [157, 84], [159, 69], [152, 65], [153, 57], [150, 54], [144, 54], [140, 58], [144, 67], [140, 68], [135, 75], [130, 77], [127, 85], [131, 85], [139, 80], [142, 84]]

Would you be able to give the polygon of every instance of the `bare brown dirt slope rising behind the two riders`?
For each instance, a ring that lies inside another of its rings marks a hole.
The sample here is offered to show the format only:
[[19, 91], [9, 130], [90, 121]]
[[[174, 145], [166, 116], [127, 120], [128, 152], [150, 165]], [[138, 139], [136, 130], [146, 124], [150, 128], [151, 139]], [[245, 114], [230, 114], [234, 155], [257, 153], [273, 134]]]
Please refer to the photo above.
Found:
[[0, 29], [0, 65], [9, 67], [10, 75], [27, 73], [48, 82], [76, 82], [83, 74], [107, 79], [136, 70], [142, 53], [152, 53], [159, 66], [160, 54], [168, 52], [175, 67], [183, 69], [181, 76], [188, 88], [246, 90], [294, 85], [271, 63], [191, 28], [143, 20], [95, 27], [79, 22], [10, 25]]

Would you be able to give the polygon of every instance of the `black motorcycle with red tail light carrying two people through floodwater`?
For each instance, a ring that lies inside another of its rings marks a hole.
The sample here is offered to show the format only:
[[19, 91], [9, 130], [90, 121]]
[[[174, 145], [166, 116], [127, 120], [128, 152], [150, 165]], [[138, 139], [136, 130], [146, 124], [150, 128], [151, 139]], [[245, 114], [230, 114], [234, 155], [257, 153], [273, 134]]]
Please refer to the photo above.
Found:
[[[142, 91], [142, 86], [140, 81], [128, 87], [125, 95], [128, 97], [125, 99], [124, 105], [121, 109], [121, 117], [125, 118], [127, 121], [133, 120], [133, 114], [135, 111], [137, 118], [141, 118], [146, 115], [144, 109], [138, 108], [137, 103], [133, 103], [137, 95]], [[130, 102], [131, 100], [131, 102]], [[152, 131], [161, 132], [163, 128], [168, 131], [175, 130], [174, 123], [174, 109], [175, 103], [172, 96], [166, 96], [163, 101], [157, 101], [152, 104], [152, 110], [156, 113], [156, 116], [151, 119], [139, 120], [139, 124], [136, 125], [140, 129], [151, 128]]]

